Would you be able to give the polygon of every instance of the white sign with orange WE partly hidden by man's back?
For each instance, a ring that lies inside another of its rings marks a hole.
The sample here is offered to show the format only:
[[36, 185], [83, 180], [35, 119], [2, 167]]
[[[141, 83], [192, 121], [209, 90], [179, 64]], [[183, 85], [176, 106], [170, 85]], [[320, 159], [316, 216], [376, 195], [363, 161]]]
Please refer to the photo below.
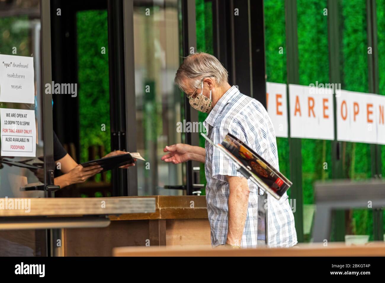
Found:
[[277, 137], [288, 137], [286, 84], [266, 82], [267, 112]]

